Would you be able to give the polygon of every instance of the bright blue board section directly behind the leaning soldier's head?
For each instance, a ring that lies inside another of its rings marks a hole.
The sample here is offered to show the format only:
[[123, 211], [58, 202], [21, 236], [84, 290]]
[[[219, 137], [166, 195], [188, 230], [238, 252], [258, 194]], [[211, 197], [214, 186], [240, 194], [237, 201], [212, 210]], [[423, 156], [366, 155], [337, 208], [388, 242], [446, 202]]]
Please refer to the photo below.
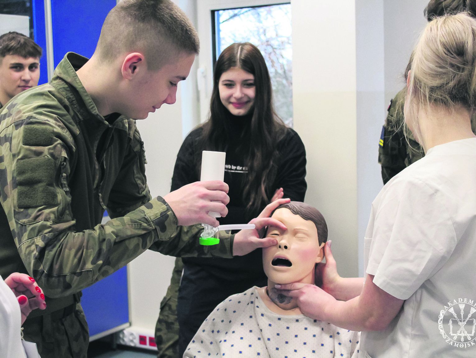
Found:
[[55, 67], [68, 51], [91, 57], [116, 0], [51, 0]]

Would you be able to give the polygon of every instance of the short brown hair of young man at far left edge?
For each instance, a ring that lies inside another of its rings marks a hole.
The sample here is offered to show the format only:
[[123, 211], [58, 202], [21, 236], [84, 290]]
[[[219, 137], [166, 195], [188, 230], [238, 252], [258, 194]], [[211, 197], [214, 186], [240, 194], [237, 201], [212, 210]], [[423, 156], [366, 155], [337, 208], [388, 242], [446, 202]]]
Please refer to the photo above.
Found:
[[7, 55], [39, 59], [42, 52], [41, 47], [35, 41], [19, 32], [10, 31], [0, 36], [0, 61]]

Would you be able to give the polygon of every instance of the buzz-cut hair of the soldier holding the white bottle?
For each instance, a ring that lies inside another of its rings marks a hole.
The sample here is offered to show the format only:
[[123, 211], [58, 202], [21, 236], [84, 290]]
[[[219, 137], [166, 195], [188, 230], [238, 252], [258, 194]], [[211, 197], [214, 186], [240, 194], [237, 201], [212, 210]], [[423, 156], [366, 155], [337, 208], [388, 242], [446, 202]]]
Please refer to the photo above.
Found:
[[182, 52], [198, 54], [198, 34], [170, 0], [122, 0], [109, 11], [98, 40], [99, 59], [142, 53], [148, 70], [159, 70]]

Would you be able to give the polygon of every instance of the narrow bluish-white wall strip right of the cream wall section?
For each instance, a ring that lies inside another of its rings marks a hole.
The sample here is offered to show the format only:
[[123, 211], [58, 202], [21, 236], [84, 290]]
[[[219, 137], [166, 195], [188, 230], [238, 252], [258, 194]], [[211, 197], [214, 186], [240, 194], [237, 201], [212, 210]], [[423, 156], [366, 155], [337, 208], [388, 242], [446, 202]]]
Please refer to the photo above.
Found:
[[356, 0], [357, 54], [357, 253], [364, 275], [364, 236], [372, 200], [382, 188], [378, 139], [385, 118], [384, 1]]

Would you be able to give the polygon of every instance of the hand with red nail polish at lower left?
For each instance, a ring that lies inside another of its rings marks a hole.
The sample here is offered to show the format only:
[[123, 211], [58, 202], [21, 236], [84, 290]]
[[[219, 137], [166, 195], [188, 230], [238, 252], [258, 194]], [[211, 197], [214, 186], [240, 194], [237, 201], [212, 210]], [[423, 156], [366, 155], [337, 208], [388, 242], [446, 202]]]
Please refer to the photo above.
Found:
[[45, 295], [41, 292], [41, 288], [35, 282], [35, 279], [19, 272], [12, 273], [5, 278], [5, 283], [17, 296], [21, 310], [21, 324], [30, 312], [35, 308], [45, 309]]

